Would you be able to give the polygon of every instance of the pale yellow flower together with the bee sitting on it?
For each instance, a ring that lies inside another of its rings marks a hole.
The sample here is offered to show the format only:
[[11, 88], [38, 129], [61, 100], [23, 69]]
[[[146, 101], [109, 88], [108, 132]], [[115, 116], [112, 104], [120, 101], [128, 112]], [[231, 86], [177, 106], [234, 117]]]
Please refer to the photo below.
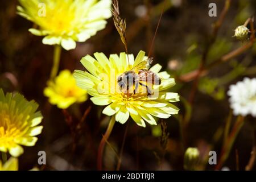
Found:
[[168, 92], [175, 85], [174, 78], [159, 72], [159, 64], [148, 69], [152, 61], [145, 52], [140, 51], [135, 59], [124, 52], [110, 55], [109, 59], [104, 53], [96, 52], [94, 56], [96, 59], [89, 55], [82, 58], [87, 71], [76, 70], [73, 76], [77, 85], [93, 96], [90, 100], [94, 104], [106, 105], [102, 113], [120, 123], [131, 116], [142, 127], [146, 126], [145, 121], [156, 125], [156, 118], [178, 113], [172, 102], [179, 101], [179, 95]]

